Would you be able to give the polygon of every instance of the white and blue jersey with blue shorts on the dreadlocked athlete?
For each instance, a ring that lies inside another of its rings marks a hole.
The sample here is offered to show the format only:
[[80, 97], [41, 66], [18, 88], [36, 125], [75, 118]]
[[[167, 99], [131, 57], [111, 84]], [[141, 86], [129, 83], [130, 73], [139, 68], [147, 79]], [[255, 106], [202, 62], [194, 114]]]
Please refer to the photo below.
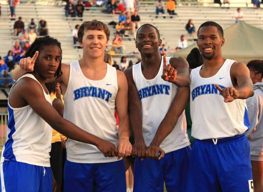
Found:
[[[25, 77], [38, 82], [32, 74], [21, 78]], [[51, 104], [44, 89], [43, 94]], [[49, 161], [52, 128], [30, 105], [13, 108], [8, 100], [7, 108], [9, 119], [7, 141], [0, 160], [0, 192], [52, 192]]]

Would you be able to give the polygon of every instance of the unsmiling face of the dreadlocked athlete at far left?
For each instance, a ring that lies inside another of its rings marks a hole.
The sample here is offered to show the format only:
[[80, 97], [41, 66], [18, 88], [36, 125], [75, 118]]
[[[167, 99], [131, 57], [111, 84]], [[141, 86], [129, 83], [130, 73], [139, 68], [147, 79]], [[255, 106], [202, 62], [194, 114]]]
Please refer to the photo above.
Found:
[[45, 45], [39, 51], [34, 73], [41, 79], [53, 78], [61, 60], [61, 50], [56, 45]]

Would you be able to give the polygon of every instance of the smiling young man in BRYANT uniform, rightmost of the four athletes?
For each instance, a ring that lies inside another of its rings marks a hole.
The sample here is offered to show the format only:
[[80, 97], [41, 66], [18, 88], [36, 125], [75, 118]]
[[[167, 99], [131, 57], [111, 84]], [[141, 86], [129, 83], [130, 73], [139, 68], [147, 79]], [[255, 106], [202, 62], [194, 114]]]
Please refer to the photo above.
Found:
[[192, 69], [192, 136], [187, 192], [253, 192], [245, 99], [253, 96], [249, 70], [222, 57], [222, 27], [207, 21], [198, 29], [204, 64]]

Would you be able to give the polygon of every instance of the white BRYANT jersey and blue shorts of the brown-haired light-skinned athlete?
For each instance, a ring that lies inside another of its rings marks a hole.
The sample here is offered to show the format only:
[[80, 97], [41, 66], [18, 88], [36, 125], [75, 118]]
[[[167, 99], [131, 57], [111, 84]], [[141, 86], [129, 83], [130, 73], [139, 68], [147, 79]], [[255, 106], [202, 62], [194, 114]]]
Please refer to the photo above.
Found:
[[[102, 80], [84, 76], [78, 61], [70, 64], [70, 76], [64, 99], [64, 118], [83, 130], [117, 146], [114, 117], [118, 92], [116, 69], [107, 64]], [[73, 192], [125, 192], [124, 161], [109, 158], [92, 144], [68, 139], [64, 171], [64, 190]]]

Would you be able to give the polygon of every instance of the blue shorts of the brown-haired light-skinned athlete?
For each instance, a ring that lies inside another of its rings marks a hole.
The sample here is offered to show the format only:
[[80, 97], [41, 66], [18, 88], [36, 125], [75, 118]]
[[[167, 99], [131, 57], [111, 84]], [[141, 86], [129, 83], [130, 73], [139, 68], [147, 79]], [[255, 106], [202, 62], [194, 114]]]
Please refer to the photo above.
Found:
[[126, 192], [124, 160], [75, 163], [66, 160], [64, 192]]

